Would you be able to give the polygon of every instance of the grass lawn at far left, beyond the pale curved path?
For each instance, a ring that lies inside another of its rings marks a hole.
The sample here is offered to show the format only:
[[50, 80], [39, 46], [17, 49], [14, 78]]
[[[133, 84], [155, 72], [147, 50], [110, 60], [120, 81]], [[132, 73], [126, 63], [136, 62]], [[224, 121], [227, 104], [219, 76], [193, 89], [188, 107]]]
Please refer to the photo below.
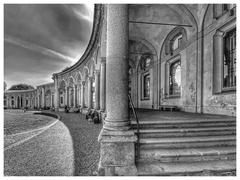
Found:
[[11, 135], [24, 131], [44, 127], [55, 121], [54, 118], [34, 115], [33, 112], [4, 111], [4, 135]]

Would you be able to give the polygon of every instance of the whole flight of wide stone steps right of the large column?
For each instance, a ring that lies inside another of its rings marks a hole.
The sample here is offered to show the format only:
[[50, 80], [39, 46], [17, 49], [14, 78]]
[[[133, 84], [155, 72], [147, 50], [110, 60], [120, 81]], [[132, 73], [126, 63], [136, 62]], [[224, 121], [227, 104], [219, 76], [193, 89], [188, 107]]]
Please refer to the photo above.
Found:
[[[138, 175], [236, 175], [234, 117], [187, 117], [185, 113], [182, 118], [180, 112], [168, 112], [170, 117], [161, 118], [161, 113], [150, 119], [145, 114], [143, 120], [139, 115]], [[137, 132], [136, 121], [131, 123]]]

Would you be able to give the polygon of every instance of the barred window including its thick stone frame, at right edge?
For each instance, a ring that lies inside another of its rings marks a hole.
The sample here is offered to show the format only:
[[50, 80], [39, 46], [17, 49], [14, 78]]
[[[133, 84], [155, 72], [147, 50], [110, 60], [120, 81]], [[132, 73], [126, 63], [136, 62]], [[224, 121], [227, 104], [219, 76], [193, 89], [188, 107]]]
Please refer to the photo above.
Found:
[[236, 21], [218, 29], [213, 37], [213, 93], [236, 91]]

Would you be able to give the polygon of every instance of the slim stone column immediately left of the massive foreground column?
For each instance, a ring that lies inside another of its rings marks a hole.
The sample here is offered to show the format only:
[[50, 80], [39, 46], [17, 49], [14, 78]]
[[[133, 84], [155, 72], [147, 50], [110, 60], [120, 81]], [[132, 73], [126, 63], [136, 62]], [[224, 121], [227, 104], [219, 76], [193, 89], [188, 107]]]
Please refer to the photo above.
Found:
[[101, 60], [100, 69], [100, 109], [105, 111], [106, 105], [106, 58]]

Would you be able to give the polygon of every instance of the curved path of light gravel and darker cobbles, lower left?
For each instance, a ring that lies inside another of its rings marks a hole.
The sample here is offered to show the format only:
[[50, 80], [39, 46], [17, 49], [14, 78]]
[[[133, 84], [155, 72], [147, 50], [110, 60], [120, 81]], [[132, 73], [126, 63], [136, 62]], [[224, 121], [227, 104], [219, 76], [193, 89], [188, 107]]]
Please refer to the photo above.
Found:
[[90, 123], [81, 114], [59, 114], [60, 121], [34, 134], [26, 133], [27, 140], [4, 149], [4, 175], [94, 175], [101, 124]]

